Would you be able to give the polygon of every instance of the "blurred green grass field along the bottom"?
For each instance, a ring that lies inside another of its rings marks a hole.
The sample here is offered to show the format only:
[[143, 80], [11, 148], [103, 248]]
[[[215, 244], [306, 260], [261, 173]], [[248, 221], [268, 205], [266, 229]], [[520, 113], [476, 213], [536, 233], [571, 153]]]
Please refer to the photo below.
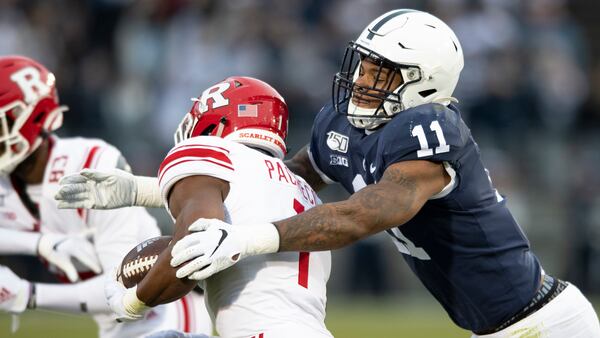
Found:
[[[599, 304], [595, 302], [595, 304]], [[598, 307], [597, 307], [598, 308]], [[82, 316], [29, 312], [11, 335], [11, 316], [0, 315], [0, 337], [95, 337], [94, 322]], [[382, 300], [331, 300], [327, 327], [338, 338], [469, 338], [442, 308], [427, 297]]]

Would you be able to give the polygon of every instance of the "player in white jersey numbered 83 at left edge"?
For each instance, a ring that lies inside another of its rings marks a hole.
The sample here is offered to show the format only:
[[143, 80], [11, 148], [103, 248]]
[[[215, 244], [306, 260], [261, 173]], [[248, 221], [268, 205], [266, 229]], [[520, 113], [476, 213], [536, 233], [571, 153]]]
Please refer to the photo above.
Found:
[[195, 294], [156, 307], [136, 323], [112, 318], [106, 277], [132, 247], [160, 232], [143, 208], [57, 208], [53, 196], [64, 175], [82, 168], [128, 168], [121, 153], [102, 140], [51, 134], [65, 110], [54, 75], [44, 66], [26, 57], [0, 57], [0, 254], [38, 255], [59, 279], [76, 282], [33, 283], [0, 267], [0, 311], [87, 313], [103, 338], [165, 329], [210, 333], [202, 297]]

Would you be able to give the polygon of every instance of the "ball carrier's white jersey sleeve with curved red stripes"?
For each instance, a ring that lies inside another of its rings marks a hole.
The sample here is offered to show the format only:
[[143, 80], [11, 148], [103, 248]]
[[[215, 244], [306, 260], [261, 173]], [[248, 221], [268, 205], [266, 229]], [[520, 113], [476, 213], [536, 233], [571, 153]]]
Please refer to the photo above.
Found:
[[160, 165], [158, 183], [165, 205], [175, 183], [194, 175], [212, 176], [233, 182], [234, 165], [229, 141], [213, 136], [198, 136], [175, 146]]

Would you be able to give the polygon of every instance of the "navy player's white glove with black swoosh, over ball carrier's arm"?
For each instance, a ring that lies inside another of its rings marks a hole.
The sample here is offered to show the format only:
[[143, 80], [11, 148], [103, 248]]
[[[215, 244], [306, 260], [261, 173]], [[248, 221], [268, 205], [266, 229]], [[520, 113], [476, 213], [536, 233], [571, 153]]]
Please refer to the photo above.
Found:
[[277, 252], [279, 233], [271, 223], [233, 226], [218, 219], [200, 218], [188, 228], [171, 251], [177, 278], [204, 280], [253, 255]]

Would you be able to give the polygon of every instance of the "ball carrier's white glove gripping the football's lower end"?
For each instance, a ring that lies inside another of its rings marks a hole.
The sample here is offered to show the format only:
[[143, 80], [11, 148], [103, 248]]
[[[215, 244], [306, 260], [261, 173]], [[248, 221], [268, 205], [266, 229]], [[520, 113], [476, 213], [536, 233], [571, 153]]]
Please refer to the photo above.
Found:
[[123, 284], [108, 278], [104, 286], [104, 295], [117, 322], [131, 322], [144, 318], [150, 307], [136, 295], [137, 285], [127, 289]]

